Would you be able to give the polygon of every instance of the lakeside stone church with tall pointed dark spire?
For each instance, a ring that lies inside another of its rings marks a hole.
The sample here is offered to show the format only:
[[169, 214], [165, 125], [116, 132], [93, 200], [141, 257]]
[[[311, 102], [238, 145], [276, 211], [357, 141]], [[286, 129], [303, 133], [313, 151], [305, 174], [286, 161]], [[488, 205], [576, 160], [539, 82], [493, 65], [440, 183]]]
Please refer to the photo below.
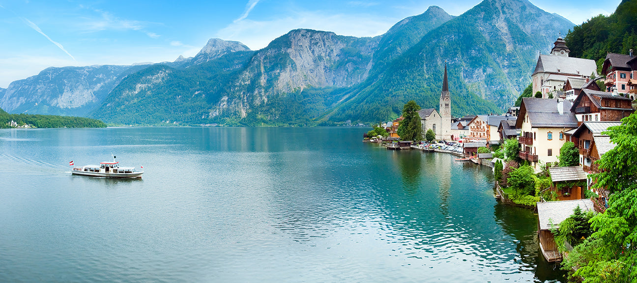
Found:
[[422, 134], [426, 134], [431, 129], [436, 134], [436, 140], [451, 140], [451, 96], [449, 84], [447, 82], [447, 64], [445, 64], [445, 76], [442, 82], [442, 92], [440, 93], [440, 112], [435, 108], [421, 109], [420, 124]]

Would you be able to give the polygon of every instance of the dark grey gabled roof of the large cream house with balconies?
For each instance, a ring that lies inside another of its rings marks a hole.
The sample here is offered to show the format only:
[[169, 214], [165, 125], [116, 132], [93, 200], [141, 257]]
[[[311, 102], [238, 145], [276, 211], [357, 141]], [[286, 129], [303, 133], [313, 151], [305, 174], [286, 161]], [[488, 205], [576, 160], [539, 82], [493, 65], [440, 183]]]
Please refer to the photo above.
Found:
[[577, 127], [575, 113], [569, 112], [571, 103], [563, 101], [562, 113], [559, 113], [557, 99], [552, 98], [522, 98], [520, 115], [518, 115], [515, 127], [522, 128], [524, 117], [529, 115], [531, 127]]

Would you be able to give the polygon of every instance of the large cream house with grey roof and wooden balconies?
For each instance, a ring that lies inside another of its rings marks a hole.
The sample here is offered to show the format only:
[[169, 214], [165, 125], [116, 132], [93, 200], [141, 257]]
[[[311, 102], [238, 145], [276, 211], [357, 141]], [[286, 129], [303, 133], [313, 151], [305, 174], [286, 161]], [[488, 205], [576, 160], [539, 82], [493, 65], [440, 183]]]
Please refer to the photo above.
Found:
[[570, 108], [568, 100], [522, 98], [515, 122], [515, 128], [520, 129], [520, 158], [531, 162], [536, 171], [540, 162], [557, 161], [559, 149], [566, 142], [564, 132], [578, 126]]

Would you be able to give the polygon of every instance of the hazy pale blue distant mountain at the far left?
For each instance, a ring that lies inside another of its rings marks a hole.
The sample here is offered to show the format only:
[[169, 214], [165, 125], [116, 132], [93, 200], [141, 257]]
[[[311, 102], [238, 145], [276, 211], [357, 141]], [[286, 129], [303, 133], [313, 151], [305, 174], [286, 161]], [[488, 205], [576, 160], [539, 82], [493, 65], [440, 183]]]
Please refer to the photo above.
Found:
[[47, 68], [10, 83], [0, 108], [10, 113], [85, 116], [99, 106], [131, 66]]

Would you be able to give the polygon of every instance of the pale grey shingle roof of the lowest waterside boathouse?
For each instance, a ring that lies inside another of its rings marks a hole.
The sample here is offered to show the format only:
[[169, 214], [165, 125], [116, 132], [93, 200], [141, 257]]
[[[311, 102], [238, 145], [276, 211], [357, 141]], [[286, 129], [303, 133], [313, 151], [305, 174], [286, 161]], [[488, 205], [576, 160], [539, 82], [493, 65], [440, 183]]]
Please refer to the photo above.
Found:
[[544, 203], [538, 203], [538, 218], [540, 219], [540, 230], [551, 229], [550, 222], [553, 222], [557, 228], [559, 224], [573, 215], [573, 210], [580, 206], [582, 211], [594, 211], [595, 207], [593, 202], [589, 199], [586, 200], [571, 200], [571, 201], [547, 201]]

